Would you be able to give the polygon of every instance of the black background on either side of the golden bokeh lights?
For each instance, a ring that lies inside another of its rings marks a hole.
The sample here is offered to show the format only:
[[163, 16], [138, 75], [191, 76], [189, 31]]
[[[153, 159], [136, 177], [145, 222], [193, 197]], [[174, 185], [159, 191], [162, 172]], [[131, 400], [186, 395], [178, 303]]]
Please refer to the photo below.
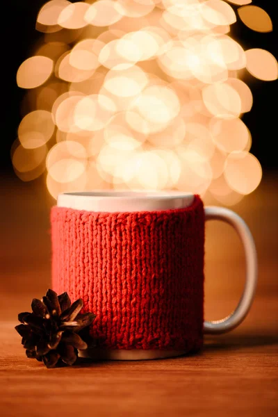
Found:
[[[17, 126], [21, 120], [19, 104], [26, 92], [17, 87], [15, 81], [17, 68], [22, 61], [31, 56], [33, 44], [42, 37], [42, 33], [35, 30], [35, 21], [44, 3], [46, 3], [45, 0], [13, 0], [5, 6], [1, 5], [2, 74], [0, 86], [3, 129], [0, 158], [3, 173], [13, 172], [10, 147], [17, 137]], [[277, 2], [255, 0], [252, 4], [261, 6], [270, 15], [274, 30], [270, 33], [254, 32], [238, 18], [238, 22], [231, 26], [231, 34], [240, 42], [243, 49], [267, 49], [277, 58]], [[254, 104], [251, 112], [243, 116], [243, 121], [252, 133], [251, 152], [259, 158], [264, 170], [275, 170], [277, 169], [277, 155], [273, 147], [277, 142], [278, 131], [277, 81], [259, 81], [250, 76], [247, 83], [252, 90]]]

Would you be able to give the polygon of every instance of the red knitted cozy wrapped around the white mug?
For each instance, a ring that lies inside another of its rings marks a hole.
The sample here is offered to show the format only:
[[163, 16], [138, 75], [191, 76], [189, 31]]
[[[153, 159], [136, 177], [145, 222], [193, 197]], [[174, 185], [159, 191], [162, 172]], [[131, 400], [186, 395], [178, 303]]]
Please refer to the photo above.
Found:
[[204, 207], [51, 211], [52, 285], [93, 311], [111, 349], [198, 350], [203, 340]]

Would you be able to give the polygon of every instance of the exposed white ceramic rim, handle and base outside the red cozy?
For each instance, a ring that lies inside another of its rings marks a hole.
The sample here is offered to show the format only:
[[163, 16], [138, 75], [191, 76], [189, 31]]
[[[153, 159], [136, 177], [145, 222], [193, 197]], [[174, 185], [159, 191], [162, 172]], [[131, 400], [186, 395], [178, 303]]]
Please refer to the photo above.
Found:
[[[87, 211], [90, 213], [134, 213], [153, 211], [171, 211], [190, 208], [195, 196], [179, 192], [128, 192], [128, 191], [92, 191], [90, 193], [65, 193], [58, 195], [58, 208], [70, 208], [73, 211]], [[246, 275], [243, 295], [236, 309], [227, 317], [215, 321], [204, 321], [204, 334], [220, 334], [238, 326], [247, 315], [257, 281], [256, 249], [250, 229], [234, 211], [218, 206], [204, 208], [205, 220], [222, 220], [231, 224], [243, 243], [245, 252]], [[54, 248], [56, 250], [56, 248]], [[59, 277], [54, 277], [56, 291], [67, 291], [58, 288]], [[185, 354], [186, 350], [158, 350], [158, 349], [96, 349], [83, 352], [83, 356], [101, 357], [104, 359], [154, 359], [160, 357], [174, 357]]]

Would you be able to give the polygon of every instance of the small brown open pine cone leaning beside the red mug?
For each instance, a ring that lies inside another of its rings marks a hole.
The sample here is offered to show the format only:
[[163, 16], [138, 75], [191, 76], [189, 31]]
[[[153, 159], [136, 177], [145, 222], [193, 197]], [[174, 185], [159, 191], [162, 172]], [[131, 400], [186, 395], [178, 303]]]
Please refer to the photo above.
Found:
[[72, 305], [67, 293], [57, 295], [48, 290], [42, 301], [34, 298], [33, 313], [19, 313], [21, 325], [15, 327], [22, 336], [22, 345], [28, 358], [43, 361], [47, 368], [58, 364], [72, 365], [78, 357], [78, 349], [88, 345], [79, 336], [81, 329], [95, 319], [94, 313], [81, 314], [82, 300]]

